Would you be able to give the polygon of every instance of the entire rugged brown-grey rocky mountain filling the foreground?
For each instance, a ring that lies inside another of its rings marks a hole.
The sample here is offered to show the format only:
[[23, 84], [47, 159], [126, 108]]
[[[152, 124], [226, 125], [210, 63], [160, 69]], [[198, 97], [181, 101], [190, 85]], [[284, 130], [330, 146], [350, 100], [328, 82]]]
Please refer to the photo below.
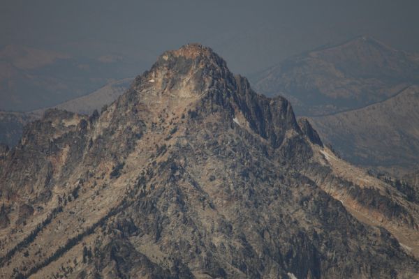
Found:
[[1, 278], [415, 278], [419, 199], [198, 44], [0, 146]]

